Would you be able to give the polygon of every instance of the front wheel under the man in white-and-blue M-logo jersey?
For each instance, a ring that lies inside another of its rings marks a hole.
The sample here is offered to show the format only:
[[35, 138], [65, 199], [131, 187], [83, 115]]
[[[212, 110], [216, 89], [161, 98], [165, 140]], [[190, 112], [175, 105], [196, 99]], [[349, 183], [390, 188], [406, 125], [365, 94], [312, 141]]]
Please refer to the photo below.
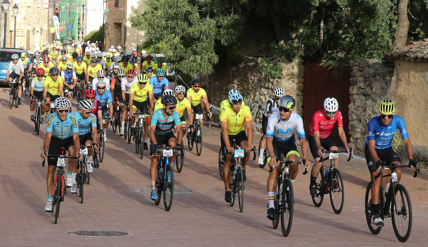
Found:
[[[287, 190], [288, 188], [288, 190]], [[294, 195], [293, 185], [289, 178], [282, 183], [281, 193], [281, 230], [282, 235], [287, 237], [290, 234], [291, 223], [293, 222]]]

